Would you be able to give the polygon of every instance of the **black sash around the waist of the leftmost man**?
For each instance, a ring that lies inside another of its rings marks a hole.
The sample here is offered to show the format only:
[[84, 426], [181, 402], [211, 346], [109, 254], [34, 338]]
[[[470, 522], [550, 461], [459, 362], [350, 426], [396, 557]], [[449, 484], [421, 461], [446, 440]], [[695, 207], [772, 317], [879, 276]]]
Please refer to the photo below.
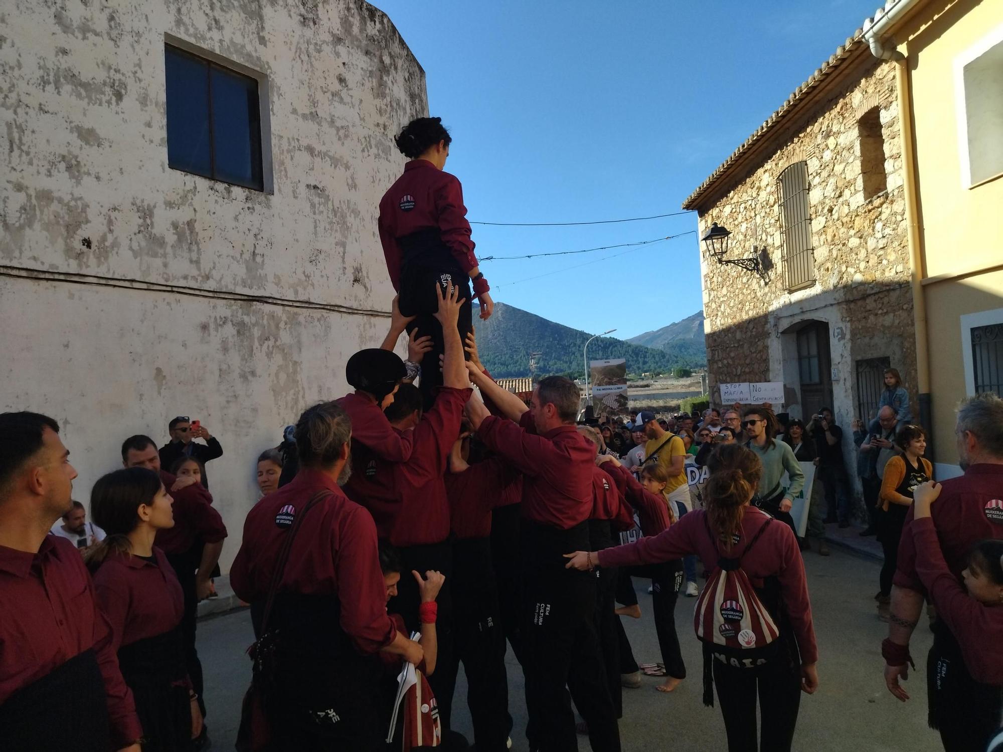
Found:
[[107, 752], [104, 680], [93, 650], [69, 659], [0, 705], [4, 752]]

